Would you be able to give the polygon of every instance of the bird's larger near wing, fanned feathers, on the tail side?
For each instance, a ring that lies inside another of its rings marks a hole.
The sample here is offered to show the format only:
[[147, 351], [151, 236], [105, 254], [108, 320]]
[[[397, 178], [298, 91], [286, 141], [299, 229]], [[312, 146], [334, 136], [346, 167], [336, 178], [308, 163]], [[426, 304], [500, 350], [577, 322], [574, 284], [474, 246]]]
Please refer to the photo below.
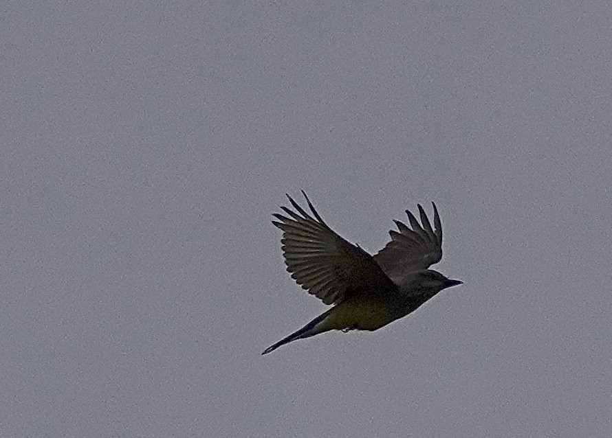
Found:
[[332, 231], [302, 193], [314, 217], [287, 195], [297, 212], [281, 207], [287, 216], [274, 214], [280, 222], [272, 221], [283, 230], [283, 255], [291, 277], [325, 304], [356, 294], [394, 290], [373, 257]]

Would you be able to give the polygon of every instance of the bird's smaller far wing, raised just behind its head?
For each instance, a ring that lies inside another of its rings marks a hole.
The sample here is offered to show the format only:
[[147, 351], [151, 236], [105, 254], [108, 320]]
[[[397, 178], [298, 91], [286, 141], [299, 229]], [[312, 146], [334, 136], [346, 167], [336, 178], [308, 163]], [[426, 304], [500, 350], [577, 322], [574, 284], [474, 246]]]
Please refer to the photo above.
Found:
[[400, 232], [389, 231], [391, 242], [374, 256], [374, 260], [389, 277], [401, 277], [415, 270], [427, 269], [430, 265], [441, 260], [442, 226], [438, 209], [434, 203], [432, 205], [435, 230], [431, 228], [421, 205], [419, 205], [421, 224], [408, 210], [406, 210], [406, 214], [412, 229], [406, 227], [406, 224], [399, 220], [393, 221]]

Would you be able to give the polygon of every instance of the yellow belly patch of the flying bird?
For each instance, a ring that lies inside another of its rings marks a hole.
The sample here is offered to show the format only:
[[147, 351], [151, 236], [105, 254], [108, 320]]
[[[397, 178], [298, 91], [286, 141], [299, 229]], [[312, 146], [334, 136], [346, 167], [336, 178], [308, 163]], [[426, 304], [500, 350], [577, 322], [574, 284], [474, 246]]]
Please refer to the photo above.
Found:
[[376, 330], [391, 321], [391, 310], [386, 303], [362, 299], [338, 304], [323, 325], [327, 330]]

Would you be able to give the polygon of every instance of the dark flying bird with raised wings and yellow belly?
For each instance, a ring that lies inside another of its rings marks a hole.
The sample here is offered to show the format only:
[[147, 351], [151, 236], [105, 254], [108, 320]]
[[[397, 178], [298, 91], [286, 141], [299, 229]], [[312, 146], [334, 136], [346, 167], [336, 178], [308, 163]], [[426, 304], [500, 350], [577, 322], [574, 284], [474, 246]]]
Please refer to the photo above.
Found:
[[281, 207], [286, 215], [273, 214], [272, 224], [283, 231], [281, 249], [291, 277], [333, 307], [262, 354], [329, 330], [378, 330], [414, 312], [441, 290], [463, 284], [429, 269], [442, 258], [442, 227], [435, 203], [433, 228], [418, 204], [421, 223], [406, 210], [410, 227], [394, 220], [398, 231], [389, 231], [391, 241], [371, 255], [333, 231], [301, 192], [310, 214], [287, 194], [294, 210]]

